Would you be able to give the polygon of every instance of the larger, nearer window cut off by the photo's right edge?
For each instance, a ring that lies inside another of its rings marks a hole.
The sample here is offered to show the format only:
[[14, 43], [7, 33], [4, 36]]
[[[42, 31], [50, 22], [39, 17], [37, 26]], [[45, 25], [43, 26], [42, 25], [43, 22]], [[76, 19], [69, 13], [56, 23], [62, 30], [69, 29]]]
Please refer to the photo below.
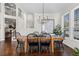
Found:
[[74, 39], [79, 40], [79, 8], [74, 11]]

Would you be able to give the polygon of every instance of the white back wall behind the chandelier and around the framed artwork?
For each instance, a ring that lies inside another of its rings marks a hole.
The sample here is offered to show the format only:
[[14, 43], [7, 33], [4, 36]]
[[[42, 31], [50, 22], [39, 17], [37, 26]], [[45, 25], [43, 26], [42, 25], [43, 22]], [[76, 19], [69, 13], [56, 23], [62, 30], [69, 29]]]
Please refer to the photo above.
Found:
[[[40, 21], [41, 21], [43, 15], [41, 13], [35, 13], [33, 16], [34, 16], [34, 28], [26, 28], [27, 33], [34, 32], [34, 31], [41, 32], [41, 23], [40, 23]], [[48, 16], [48, 19], [54, 19], [55, 20], [55, 25], [61, 23], [60, 13], [45, 14], [45, 17], [46, 16]], [[27, 18], [26, 18], [26, 20], [27, 20]]]

